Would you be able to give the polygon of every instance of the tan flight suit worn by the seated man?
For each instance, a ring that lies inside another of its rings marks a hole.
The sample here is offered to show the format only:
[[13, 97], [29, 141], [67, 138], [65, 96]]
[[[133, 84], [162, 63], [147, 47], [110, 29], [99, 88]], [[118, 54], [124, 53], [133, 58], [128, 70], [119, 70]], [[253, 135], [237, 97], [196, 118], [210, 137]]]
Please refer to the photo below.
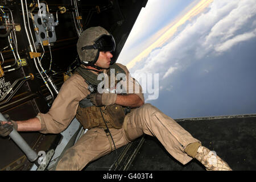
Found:
[[[126, 75], [129, 73], [124, 65], [118, 65], [126, 72]], [[138, 84], [132, 78], [129, 79], [129, 82]], [[69, 77], [61, 86], [59, 94], [48, 113], [39, 113], [37, 115], [42, 126], [40, 132], [60, 133], [65, 130], [75, 117], [79, 102], [90, 94], [87, 88], [88, 85], [80, 75], [74, 74]], [[129, 90], [129, 88], [125, 89]], [[135, 94], [144, 102], [143, 93]], [[190, 143], [200, 142], [177, 124], [174, 119], [168, 117], [151, 104], [144, 104], [127, 114], [121, 129], [112, 128], [109, 130], [116, 148], [133, 141], [143, 133], [155, 136], [166, 150], [182, 164], [192, 160], [184, 152], [184, 148]], [[112, 150], [114, 150], [113, 142]], [[81, 170], [92, 160], [109, 154], [109, 152], [111, 152], [110, 142], [104, 129], [94, 127], [82, 135], [74, 146], [65, 151], [65, 154], [57, 164], [56, 170]]]

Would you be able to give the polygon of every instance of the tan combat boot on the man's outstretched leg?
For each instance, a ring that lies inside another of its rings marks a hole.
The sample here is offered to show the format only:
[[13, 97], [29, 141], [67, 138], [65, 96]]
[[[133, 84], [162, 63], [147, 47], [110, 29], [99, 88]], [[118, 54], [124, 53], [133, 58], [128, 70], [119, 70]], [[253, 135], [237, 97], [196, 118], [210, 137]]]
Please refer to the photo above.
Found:
[[199, 160], [208, 171], [232, 171], [229, 165], [216, 155], [216, 152], [210, 151], [204, 146], [198, 148], [195, 158]]

